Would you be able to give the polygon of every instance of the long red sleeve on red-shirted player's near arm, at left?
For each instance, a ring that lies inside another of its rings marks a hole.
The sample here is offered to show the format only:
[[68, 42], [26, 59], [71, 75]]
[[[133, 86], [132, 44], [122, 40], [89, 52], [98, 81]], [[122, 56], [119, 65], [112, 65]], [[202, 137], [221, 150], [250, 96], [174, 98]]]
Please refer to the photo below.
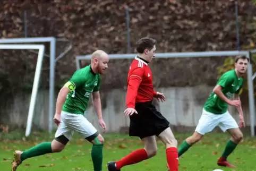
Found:
[[135, 108], [135, 100], [138, 93], [140, 83], [144, 75], [144, 68], [138, 67], [129, 75], [129, 82], [126, 92], [126, 107]]

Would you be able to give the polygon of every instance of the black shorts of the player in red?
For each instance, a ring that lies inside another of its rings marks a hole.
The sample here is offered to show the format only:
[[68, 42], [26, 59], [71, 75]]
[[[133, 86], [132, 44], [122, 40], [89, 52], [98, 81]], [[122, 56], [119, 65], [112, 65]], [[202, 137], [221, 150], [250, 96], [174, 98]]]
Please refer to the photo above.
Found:
[[169, 127], [167, 119], [157, 111], [151, 101], [136, 103], [135, 109], [138, 114], [130, 116], [130, 136], [139, 136], [141, 139], [152, 135], [158, 136]]

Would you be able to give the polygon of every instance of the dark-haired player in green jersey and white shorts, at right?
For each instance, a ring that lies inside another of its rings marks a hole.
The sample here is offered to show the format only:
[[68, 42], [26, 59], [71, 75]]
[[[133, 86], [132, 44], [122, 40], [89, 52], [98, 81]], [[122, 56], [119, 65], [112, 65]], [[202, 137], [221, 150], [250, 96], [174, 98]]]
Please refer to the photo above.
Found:
[[[223, 155], [217, 161], [219, 166], [235, 167], [228, 163], [227, 157], [233, 152], [237, 144], [242, 140], [243, 133], [239, 127], [244, 127], [243, 111], [240, 97], [238, 95], [242, 88], [243, 78], [246, 73], [249, 59], [245, 56], [235, 58], [235, 69], [227, 71], [221, 75], [214, 90], [203, 107], [202, 116], [192, 136], [187, 138], [178, 149], [178, 156], [181, 156], [194, 143], [198, 142], [204, 134], [211, 132], [216, 126], [231, 134], [231, 139], [227, 142]], [[234, 100], [231, 100], [234, 95]], [[228, 105], [237, 108], [240, 122], [239, 127], [235, 119], [228, 113]]]

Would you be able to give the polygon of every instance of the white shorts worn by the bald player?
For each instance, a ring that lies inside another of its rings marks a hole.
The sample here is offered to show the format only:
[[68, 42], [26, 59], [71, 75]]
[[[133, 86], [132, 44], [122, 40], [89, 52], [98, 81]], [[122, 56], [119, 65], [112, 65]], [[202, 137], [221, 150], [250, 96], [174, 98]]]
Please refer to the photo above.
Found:
[[55, 138], [64, 135], [67, 139], [71, 140], [75, 131], [80, 133], [83, 138], [87, 138], [97, 132], [95, 127], [83, 115], [62, 111], [61, 123], [55, 133]]

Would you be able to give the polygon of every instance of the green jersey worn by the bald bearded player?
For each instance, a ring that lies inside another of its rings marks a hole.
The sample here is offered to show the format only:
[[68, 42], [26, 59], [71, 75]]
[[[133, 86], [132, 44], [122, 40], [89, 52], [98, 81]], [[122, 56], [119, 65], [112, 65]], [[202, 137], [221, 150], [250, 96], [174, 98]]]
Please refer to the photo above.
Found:
[[62, 110], [72, 114], [84, 114], [91, 92], [99, 91], [100, 74], [92, 72], [91, 65], [76, 71], [65, 84], [71, 91], [67, 94]]

